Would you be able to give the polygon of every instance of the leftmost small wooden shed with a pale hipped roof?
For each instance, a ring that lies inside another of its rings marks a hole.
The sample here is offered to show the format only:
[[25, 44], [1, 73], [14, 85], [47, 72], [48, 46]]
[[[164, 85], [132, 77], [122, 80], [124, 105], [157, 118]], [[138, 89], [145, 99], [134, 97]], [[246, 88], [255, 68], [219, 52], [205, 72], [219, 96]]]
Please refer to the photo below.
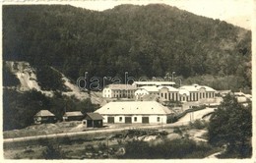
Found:
[[34, 124], [55, 123], [57, 118], [48, 110], [40, 110], [33, 116]]

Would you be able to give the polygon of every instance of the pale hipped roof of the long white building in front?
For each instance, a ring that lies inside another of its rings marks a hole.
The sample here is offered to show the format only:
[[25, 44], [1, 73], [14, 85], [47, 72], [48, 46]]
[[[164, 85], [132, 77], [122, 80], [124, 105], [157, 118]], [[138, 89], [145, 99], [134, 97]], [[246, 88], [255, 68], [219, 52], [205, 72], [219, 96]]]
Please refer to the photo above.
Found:
[[157, 101], [109, 102], [96, 110], [101, 115], [168, 115], [173, 113]]

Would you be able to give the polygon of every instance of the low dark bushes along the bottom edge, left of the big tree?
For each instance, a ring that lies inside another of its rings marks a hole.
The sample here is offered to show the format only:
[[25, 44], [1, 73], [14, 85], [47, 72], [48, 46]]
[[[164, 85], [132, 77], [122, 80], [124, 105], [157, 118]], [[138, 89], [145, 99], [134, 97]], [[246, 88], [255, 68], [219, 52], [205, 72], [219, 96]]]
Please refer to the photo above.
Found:
[[163, 140], [157, 145], [149, 145], [148, 142], [134, 140], [125, 145], [123, 158], [132, 159], [168, 159], [168, 158], [204, 158], [213, 152], [214, 148], [206, 142], [200, 142], [183, 138]]

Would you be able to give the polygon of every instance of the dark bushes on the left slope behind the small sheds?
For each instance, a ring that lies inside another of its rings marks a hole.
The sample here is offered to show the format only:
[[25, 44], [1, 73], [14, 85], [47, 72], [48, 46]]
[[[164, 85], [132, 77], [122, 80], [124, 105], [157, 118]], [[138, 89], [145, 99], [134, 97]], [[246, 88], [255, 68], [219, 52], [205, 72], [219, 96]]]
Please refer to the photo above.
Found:
[[[54, 95], [47, 97], [37, 90], [24, 93], [16, 90], [3, 91], [3, 130], [23, 129], [33, 124], [33, 116], [42, 109], [52, 112], [58, 120], [62, 120], [66, 111], [94, 112], [96, 105], [91, 99], [78, 100], [75, 97]], [[26, 115], [26, 116], [25, 116]]]

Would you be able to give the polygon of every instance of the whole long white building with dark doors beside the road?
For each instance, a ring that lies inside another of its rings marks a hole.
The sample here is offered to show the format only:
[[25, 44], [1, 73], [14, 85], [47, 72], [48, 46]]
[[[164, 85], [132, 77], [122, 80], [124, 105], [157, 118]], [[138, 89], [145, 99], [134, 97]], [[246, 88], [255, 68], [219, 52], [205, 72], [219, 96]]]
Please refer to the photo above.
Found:
[[166, 124], [174, 114], [157, 101], [109, 102], [96, 113], [109, 124]]

